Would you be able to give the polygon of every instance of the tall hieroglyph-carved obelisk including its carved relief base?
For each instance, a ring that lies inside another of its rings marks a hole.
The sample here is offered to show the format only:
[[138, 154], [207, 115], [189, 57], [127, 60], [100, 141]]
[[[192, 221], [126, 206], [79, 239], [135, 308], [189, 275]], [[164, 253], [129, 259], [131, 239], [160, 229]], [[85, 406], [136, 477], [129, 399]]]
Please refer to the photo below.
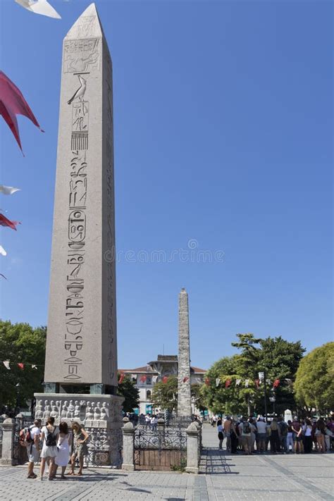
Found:
[[122, 402], [115, 396], [112, 78], [91, 4], [63, 40], [45, 393], [36, 395], [36, 415], [106, 429], [119, 428]]

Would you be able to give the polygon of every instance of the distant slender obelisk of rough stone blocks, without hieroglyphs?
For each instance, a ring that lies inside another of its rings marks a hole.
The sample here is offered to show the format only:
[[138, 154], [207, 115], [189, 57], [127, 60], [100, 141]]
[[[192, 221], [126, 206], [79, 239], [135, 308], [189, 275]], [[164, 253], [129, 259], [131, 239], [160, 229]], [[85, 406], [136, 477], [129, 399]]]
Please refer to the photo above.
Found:
[[189, 305], [187, 292], [181, 289], [178, 299], [178, 417], [190, 418], [191, 415]]

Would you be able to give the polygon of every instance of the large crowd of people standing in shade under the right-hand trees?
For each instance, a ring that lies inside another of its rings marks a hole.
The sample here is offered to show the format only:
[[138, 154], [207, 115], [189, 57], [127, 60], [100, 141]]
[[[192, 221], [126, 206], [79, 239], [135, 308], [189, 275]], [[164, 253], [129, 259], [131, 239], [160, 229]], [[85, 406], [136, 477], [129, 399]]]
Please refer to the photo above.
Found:
[[264, 417], [223, 419], [211, 421], [217, 426], [218, 447], [232, 454], [310, 454], [311, 452], [330, 452], [334, 450], [334, 417], [328, 419], [299, 419], [285, 422], [283, 417], [274, 417], [266, 422]]

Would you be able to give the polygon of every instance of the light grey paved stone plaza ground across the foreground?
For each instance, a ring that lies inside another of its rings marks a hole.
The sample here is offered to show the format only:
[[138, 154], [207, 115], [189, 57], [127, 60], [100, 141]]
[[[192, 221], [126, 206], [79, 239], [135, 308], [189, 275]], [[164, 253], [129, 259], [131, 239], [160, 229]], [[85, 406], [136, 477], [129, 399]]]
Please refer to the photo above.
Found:
[[[23, 466], [0, 469], [0, 499], [11, 500], [334, 500], [333, 454], [231, 456], [216, 449], [216, 430], [204, 426], [200, 475], [85, 469], [84, 476], [28, 480]], [[36, 470], [37, 472], [37, 470]]]

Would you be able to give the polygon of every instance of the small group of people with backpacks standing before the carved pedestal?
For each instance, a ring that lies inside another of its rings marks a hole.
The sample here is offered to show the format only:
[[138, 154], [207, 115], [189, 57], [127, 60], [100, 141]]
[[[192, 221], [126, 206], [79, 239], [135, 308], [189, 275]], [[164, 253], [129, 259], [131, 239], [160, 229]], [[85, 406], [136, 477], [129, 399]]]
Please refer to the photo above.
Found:
[[[66, 475], [75, 475], [75, 460], [78, 458], [79, 471], [82, 475], [84, 458], [88, 454], [88, 433], [79, 423], [74, 422], [71, 426], [73, 433], [73, 453], [70, 455], [70, 430], [68, 424], [63, 421], [59, 426], [54, 426], [54, 417], [47, 419], [47, 424], [42, 426], [42, 421], [36, 419], [34, 425], [29, 428], [29, 443], [27, 443], [28, 472], [27, 478], [37, 478], [34, 472], [35, 463], [40, 462], [39, 479], [44, 479], [44, 471], [48, 466], [48, 480], [56, 478], [58, 466], [61, 467], [61, 479]], [[66, 474], [66, 466], [70, 462], [70, 469]]]

